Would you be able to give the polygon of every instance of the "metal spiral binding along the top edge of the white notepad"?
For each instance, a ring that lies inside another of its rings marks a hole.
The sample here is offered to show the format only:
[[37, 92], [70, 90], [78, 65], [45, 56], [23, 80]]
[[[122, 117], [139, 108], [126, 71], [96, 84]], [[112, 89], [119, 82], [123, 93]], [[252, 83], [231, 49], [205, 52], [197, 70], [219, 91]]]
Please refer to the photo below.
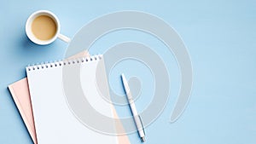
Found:
[[78, 58], [78, 59], [71, 59], [71, 60], [66, 59], [66, 60], [45, 61], [45, 62], [41, 62], [41, 64], [37, 63], [34, 65], [26, 66], [26, 71], [37, 71], [37, 70], [43, 70], [48, 68], [60, 67], [60, 66], [86, 63], [86, 62], [101, 60], [101, 59], [102, 59], [102, 55], [92, 55], [92, 56], [87, 56], [87, 57]]

